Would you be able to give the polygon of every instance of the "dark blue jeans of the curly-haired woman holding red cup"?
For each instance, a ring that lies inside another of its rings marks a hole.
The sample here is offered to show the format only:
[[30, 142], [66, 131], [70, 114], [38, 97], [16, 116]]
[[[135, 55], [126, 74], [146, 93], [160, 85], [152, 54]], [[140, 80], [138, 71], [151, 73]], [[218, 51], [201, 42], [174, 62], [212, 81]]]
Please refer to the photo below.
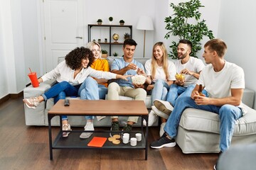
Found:
[[[42, 94], [45, 101], [48, 98], [54, 98], [54, 104], [60, 99], [65, 99], [66, 96], [78, 96], [79, 86], [72, 86], [68, 81], [62, 81], [52, 86], [45, 94]], [[67, 116], [61, 117], [62, 120], [68, 120]]]

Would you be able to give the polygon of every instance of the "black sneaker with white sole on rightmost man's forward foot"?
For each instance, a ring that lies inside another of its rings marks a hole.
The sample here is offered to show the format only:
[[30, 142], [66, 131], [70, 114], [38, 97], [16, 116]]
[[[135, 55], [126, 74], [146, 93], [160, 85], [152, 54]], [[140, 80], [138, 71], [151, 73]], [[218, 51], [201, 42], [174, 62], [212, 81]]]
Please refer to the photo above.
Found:
[[156, 140], [154, 142], [151, 142], [150, 147], [154, 149], [160, 149], [162, 147], [174, 147], [176, 145], [176, 142], [174, 139], [169, 139], [167, 137], [166, 132], [164, 135], [162, 135], [159, 140]]

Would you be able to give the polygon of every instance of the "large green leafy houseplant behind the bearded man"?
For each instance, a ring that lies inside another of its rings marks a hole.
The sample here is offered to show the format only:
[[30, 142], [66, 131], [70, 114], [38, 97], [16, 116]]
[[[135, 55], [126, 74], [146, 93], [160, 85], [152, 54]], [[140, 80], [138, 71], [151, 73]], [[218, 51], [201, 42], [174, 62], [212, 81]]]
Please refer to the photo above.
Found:
[[[166, 30], [169, 32], [164, 38], [168, 39], [170, 35], [173, 35], [178, 36], [179, 40], [190, 40], [193, 44], [191, 56], [197, 57], [196, 53], [202, 49], [203, 36], [214, 38], [213, 31], [206, 26], [206, 21], [200, 19], [201, 13], [198, 9], [204, 6], [201, 5], [200, 0], [181, 2], [177, 6], [171, 3], [170, 6], [174, 9], [174, 14], [165, 18]], [[178, 42], [173, 40], [170, 45], [172, 51], [169, 54], [172, 59], [177, 59], [177, 46]]]

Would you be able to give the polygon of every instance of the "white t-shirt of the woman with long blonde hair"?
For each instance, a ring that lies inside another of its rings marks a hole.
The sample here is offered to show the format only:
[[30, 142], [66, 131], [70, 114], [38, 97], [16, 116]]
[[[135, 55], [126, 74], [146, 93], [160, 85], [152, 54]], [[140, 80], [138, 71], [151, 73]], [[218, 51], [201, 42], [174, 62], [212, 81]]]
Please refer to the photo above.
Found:
[[[146, 70], [146, 76], [151, 76], [151, 59], [146, 60], [145, 63], [145, 70]], [[176, 74], [176, 67], [174, 65], [174, 62], [171, 62], [168, 60], [168, 72], [169, 72], [169, 80], [176, 80], [175, 79], [175, 74]], [[154, 79], [152, 80], [153, 82], [156, 82], [157, 79], [163, 79], [166, 81], [166, 74], [164, 73], [163, 67], [156, 67], [156, 74], [154, 76]]]

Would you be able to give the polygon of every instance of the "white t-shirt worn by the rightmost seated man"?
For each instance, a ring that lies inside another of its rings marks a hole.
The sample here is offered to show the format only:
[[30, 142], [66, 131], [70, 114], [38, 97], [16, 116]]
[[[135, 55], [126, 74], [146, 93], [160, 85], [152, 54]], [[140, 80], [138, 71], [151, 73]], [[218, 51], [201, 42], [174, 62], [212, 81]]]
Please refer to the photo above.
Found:
[[[220, 72], [215, 72], [209, 64], [202, 70], [197, 84], [206, 86], [210, 98], [230, 97], [231, 89], [245, 89], [245, 74], [241, 67], [227, 61]], [[246, 113], [242, 101], [238, 107]]]

